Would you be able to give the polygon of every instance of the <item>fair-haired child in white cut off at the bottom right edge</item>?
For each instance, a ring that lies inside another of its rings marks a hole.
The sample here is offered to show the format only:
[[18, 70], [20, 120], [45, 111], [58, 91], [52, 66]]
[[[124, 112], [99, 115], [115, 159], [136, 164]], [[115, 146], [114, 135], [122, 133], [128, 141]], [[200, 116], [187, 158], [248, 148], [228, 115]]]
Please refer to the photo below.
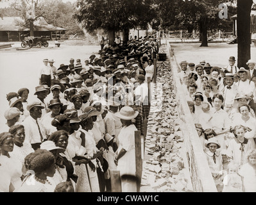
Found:
[[238, 172], [242, 176], [243, 192], [256, 192], [256, 150], [248, 151], [246, 159]]

